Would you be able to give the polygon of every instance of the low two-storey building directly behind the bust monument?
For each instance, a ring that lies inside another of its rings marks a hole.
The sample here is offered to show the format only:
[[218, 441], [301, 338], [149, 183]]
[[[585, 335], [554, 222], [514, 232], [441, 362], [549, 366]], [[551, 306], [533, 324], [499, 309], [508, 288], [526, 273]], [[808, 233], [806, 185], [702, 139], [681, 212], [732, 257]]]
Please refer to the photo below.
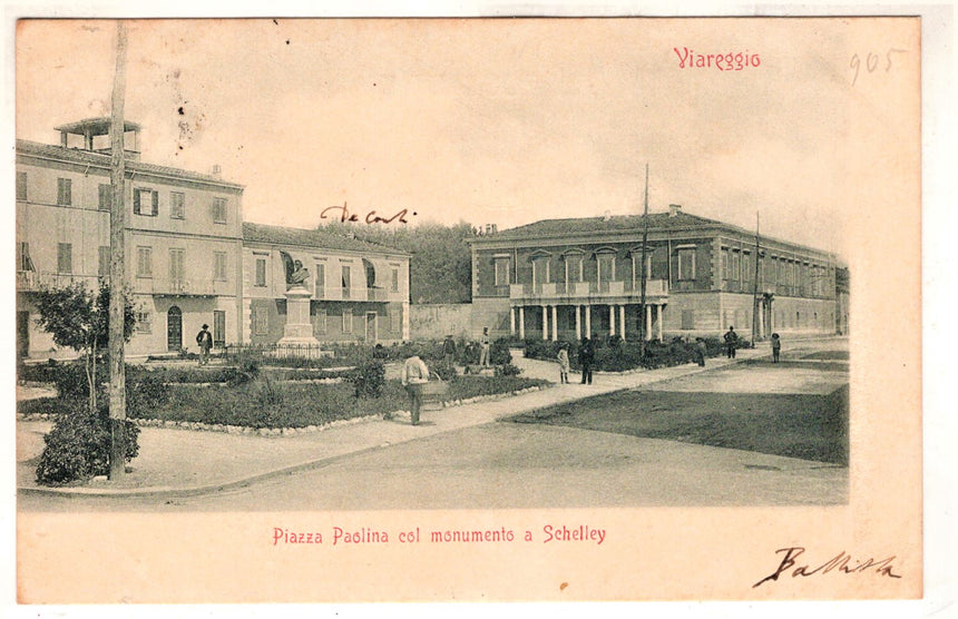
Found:
[[[316, 229], [243, 224], [244, 341], [278, 342], [286, 324], [286, 264], [307, 271], [319, 342], [409, 338], [409, 254]], [[287, 257], [284, 258], [283, 254]]]

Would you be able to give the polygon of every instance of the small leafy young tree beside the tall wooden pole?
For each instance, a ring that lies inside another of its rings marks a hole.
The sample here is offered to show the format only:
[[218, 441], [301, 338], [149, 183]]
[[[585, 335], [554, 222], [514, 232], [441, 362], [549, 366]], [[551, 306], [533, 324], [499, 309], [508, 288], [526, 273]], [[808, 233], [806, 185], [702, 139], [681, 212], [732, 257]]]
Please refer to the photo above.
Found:
[[[40, 317], [37, 325], [53, 337], [58, 346], [72, 348], [84, 357], [89, 389], [89, 410], [97, 411], [97, 357], [109, 343], [110, 286], [100, 282], [90, 291], [82, 282], [66, 287], [45, 288], [35, 298]], [[136, 314], [124, 294], [124, 341], [136, 326]]]

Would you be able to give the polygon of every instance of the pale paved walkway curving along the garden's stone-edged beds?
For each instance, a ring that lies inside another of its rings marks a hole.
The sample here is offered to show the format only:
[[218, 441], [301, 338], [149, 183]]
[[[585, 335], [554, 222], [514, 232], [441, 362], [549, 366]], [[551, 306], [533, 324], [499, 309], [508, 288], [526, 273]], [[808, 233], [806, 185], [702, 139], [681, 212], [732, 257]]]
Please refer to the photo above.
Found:
[[[801, 347], [808, 343], [795, 343]], [[739, 360], [770, 354], [768, 344], [739, 352]], [[557, 365], [514, 355], [524, 375], [558, 377]], [[165, 428], [143, 428], [140, 455], [130, 463], [124, 480], [96, 479], [86, 485], [41, 488], [33, 476], [48, 422], [17, 424], [17, 479], [20, 493], [67, 495], [193, 495], [246, 485], [256, 481], [309, 470], [351, 454], [404, 443], [496, 421], [497, 419], [583, 397], [635, 389], [690, 374], [726, 366], [732, 361], [708, 360], [705, 369], [686, 364], [630, 374], [597, 374], [592, 385], [573, 382], [518, 396], [489, 400], [449, 409], [423, 410], [423, 424], [412, 426], [408, 419], [369, 419], [321, 432], [294, 436], [251, 436]], [[570, 376], [574, 381], [575, 375]]]

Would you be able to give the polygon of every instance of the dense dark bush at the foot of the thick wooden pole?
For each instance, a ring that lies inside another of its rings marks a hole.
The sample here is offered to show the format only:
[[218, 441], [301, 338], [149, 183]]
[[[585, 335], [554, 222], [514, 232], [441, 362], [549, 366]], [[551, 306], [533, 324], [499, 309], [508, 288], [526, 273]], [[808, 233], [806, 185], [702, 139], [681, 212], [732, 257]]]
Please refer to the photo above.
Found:
[[[139, 453], [139, 428], [125, 422], [128, 462]], [[85, 399], [74, 399], [43, 436], [43, 452], [37, 465], [37, 482], [58, 485], [109, 473], [110, 419], [108, 406], [90, 413]]]

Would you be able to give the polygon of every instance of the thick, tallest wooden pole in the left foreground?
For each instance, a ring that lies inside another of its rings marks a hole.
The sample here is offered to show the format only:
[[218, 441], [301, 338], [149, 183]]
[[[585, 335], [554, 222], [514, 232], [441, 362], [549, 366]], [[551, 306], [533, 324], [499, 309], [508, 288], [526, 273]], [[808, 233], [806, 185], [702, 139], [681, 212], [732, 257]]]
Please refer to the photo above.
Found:
[[124, 314], [126, 282], [126, 208], [124, 205], [124, 91], [126, 90], [126, 23], [117, 20], [117, 65], [110, 111], [110, 480], [126, 474], [126, 369]]

